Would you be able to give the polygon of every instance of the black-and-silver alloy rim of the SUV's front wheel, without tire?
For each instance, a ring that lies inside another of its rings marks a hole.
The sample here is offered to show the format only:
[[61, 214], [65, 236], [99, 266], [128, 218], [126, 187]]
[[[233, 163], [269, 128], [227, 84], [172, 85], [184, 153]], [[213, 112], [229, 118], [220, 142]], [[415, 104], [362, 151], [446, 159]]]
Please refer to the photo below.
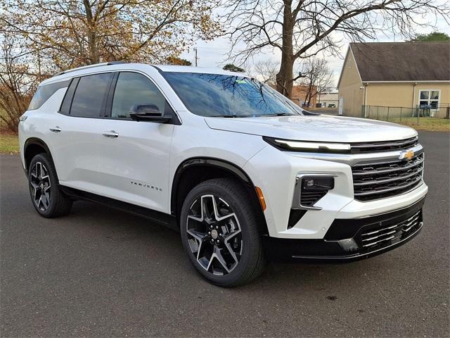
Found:
[[186, 232], [191, 253], [213, 275], [227, 275], [243, 251], [239, 220], [231, 206], [212, 194], [195, 199], [189, 208]]

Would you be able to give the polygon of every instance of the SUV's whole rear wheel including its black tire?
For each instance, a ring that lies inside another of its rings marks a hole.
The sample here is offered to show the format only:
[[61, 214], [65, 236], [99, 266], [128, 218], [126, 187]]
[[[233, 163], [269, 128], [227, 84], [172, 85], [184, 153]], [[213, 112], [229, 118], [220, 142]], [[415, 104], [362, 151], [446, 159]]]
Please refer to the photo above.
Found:
[[32, 158], [28, 185], [32, 204], [39, 215], [55, 218], [70, 212], [72, 200], [61, 192], [55, 167], [47, 154], [37, 154]]

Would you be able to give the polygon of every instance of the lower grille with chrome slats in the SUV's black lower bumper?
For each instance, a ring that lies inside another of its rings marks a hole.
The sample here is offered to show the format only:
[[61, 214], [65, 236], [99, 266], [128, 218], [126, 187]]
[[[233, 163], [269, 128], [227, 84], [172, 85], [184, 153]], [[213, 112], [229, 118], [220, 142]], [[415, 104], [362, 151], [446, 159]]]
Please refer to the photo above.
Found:
[[385, 225], [383, 227], [371, 227], [370, 230], [363, 230], [359, 236], [359, 242], [365, 251], [373, 251], [380, 246], [394, 244], [401, 239], [409, 237], [414, 230], [420, 227], [421, 222], [422, 210], [414, 213], [400, 223]]

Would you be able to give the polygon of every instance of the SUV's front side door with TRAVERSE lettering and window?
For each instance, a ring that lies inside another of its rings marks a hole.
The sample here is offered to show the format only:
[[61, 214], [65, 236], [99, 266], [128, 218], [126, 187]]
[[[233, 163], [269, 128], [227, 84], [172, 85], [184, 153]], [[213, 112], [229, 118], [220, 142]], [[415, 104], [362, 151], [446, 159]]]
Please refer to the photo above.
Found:
[[135, 104], [154, 104], [161, 112], [175, 115], [147, 75], [116, 73], [99, 149], [103, 192], [121, 201], [168, 212], [169, 152], [174, 124], [131, 120], [129, 110]]

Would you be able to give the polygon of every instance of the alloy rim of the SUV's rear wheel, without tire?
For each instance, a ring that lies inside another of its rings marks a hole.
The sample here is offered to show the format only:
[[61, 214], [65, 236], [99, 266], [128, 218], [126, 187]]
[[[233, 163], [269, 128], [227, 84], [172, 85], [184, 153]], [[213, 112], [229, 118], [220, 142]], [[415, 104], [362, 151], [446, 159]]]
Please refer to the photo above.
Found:
[[31, 168], [30, 185], [34, 204], [41, 211], [46, 211], [50, 206], [51, 183], [49, 170], [44, 163], [36, 162]]

